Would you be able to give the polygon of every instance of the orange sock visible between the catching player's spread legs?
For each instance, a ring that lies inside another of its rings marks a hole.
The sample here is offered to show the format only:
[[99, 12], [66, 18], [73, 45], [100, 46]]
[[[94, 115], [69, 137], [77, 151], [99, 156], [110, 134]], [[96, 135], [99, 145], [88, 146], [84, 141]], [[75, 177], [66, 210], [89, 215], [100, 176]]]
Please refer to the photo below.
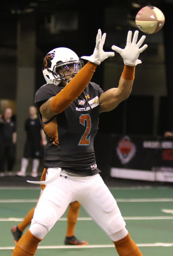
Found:
[[72, 237], [74, 235], [74, 229], [77, 222], [77, 217], [79, 215], [80, 203], [74, 201], [70, 204], [70, 208], [67, 214], [67, 237]]

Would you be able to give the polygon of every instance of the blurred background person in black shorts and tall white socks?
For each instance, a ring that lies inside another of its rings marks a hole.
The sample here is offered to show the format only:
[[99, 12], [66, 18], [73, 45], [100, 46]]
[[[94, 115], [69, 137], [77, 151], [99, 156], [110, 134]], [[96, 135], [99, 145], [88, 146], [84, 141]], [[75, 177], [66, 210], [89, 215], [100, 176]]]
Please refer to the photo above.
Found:
[[21, 170], [18, 176], [26, 176], [29, 159], [32, 159], [32, 177], [38, 176], [38, 167], [42, 157], [42, 147], [47, 144], [46, 135], [41, 127], [40, 120], [35, 106], [29, 107], [29, 118], [25, 121], [27, 139], [24, 147], [24, 155], [21, 160]]

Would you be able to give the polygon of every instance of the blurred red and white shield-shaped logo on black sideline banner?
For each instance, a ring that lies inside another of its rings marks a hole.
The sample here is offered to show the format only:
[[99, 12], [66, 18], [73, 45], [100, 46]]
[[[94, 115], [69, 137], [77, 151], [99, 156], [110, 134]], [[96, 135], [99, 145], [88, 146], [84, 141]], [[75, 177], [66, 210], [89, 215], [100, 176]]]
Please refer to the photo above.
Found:
[[116, 151], [121, 163], [128, 164], [135, 155], [136, 147], [128, 136], [124, 136], [122, 140], [119, 141]]

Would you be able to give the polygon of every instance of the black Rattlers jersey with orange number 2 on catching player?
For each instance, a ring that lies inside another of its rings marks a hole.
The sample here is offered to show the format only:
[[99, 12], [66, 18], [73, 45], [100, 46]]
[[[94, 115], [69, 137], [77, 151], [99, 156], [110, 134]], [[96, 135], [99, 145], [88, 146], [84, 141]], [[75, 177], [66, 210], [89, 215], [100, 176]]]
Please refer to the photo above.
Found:
[[[37, 92], [39, 107], [63, 88], [46, 84]], [[43, 128], [49, 137], [44, 150], [44, 167], [60, 167], [70, 173], [90, 176], [99, 173], [94, 153], [94, 137], [99, 122], [99, 97], [103, 90], [90, 82], [82, 94], [62, 113], [55, 115]], [[39, 111], [40, 118], [42, 118]]]

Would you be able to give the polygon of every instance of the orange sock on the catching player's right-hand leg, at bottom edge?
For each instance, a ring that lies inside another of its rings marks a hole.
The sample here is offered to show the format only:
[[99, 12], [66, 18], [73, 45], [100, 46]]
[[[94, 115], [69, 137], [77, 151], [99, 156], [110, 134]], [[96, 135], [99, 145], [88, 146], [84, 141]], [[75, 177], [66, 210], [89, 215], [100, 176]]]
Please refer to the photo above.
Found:
[[142, 256], [141, 251], [130, 238], [129, 233], [126, 237], [114, 242], [115, 248], [120, 256]]

